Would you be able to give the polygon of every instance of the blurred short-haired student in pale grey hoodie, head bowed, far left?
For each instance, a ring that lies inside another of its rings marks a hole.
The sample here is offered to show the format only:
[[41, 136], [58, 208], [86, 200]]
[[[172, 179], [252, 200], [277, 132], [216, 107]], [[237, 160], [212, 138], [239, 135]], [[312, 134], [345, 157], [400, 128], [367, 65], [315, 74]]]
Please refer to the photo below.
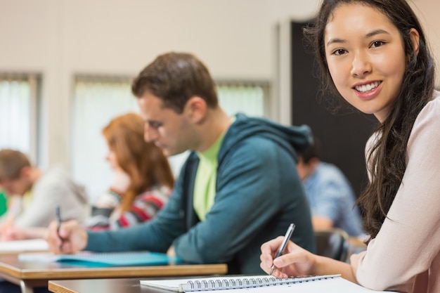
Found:
[[[15, 207], [8, 209], [13, 213], [6, 214], [6, 219], [11, 219], [8, 226], [47, 226], [55, 220], [57, 205], [64, 219], [82, 223], [86, 218], [88, 202], [84, 188], [72, 181], [61, 167], [47, 171], [32, 167], [27, 156], [18, 150], [0, 150], [0, 187], [20, 199]], [[2, 230], [6, 228], [2, 226]]]

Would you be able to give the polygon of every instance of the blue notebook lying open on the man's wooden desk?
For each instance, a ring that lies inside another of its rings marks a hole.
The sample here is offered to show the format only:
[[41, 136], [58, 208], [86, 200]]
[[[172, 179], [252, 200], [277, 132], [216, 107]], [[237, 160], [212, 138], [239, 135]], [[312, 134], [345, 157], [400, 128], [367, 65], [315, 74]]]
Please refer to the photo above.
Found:
[[104, 266], [145, 266], [180, 263], [181, 259], [159, 252], [78, 252], [76, 254], [25, 253], [19, 261], [62, 261], [68, 263], [96, 263]]

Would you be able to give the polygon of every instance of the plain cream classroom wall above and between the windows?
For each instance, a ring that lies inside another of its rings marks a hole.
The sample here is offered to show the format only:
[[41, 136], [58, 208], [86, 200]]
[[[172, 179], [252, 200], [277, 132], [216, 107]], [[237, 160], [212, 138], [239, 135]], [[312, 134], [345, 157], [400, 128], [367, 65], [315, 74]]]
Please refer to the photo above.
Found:
[[[159, 53], [191, 51], [217, 79], [272, 81], [274, 25], [313, 17], [318, 2], [0, 0], [0, 72], [43, 74], [40, 161], [68, 167], [74, 74], [134, 76]], [[415, 4], [438, 56], [440, 3]]]

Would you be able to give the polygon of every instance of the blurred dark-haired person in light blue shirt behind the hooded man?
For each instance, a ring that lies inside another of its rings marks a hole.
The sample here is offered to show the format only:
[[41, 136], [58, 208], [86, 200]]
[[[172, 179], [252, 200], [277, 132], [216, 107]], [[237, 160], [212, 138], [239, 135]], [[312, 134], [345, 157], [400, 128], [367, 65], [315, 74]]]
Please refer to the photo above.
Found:
[[309, 199], [313, 229], [336, 227], [350, 236], [361, 236], [361, 216], [350, 182], [335, 164], [321, 162], [320, 155], [321, 143], [315, 136], [313, 144], [299, 154], [297, 164]]

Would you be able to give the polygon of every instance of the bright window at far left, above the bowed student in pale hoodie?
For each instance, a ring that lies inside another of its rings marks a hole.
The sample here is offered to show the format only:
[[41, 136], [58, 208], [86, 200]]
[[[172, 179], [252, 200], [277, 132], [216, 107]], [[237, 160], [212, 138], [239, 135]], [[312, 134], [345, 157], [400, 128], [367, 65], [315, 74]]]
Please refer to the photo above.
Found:
[[0, 73], [0, 148], [25, 152], [37, 162], [37, 74]]

